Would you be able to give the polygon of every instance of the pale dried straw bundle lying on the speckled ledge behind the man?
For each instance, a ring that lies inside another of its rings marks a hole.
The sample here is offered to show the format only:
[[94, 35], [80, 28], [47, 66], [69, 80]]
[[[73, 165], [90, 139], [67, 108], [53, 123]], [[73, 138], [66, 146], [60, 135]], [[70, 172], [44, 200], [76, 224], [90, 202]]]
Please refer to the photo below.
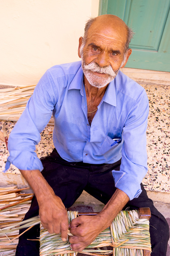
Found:
[[[35, 85], [0, 89], [0, 120], [17, 121], [25, 109]], [[53, 118], [49, 125], [54, 125]]]

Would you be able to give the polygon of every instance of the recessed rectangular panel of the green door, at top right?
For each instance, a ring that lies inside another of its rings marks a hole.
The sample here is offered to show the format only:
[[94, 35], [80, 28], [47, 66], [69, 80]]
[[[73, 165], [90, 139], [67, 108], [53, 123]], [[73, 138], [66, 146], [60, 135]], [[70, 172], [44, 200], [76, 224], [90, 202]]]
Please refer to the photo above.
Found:
[[[145, 5], [144, 2], [133, 0], [131, 1], [130, 10], [127, 10], [127, 14], [129, 13], [128, 18], [125, 20], [127, 25], [133, 27], [136, 33], [140, 28], [140, 34], [137, 33], [138, 36], [134, 37], [131, 47], [158, 51], [168, 17], [170, 2], [161, 2], [160, 6], [155, 9], [154, 16], [151, 15], [154, 3], [147, 2]], [[151, 30], [151, 28], [153, 29]], [[145, 36], [143, 37], [142, 35]]]

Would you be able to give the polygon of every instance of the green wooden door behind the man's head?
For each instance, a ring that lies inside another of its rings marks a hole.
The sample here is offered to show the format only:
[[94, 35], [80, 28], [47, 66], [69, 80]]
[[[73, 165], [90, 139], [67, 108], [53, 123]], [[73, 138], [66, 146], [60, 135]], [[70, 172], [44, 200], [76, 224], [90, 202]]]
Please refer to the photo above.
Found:
[[100, 0], [101, 14], [117, 15], [136, 33], [126, 67], [170, 72], [170, 0]]

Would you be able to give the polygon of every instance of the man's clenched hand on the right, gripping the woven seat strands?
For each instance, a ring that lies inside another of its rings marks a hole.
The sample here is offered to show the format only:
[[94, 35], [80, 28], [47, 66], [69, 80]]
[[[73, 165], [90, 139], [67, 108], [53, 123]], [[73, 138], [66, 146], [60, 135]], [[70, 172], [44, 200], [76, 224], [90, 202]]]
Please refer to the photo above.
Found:
[[82, 251], [104, 230], [100, 216], [80, 216], [70, 223], [69, 241], [73, 251]]

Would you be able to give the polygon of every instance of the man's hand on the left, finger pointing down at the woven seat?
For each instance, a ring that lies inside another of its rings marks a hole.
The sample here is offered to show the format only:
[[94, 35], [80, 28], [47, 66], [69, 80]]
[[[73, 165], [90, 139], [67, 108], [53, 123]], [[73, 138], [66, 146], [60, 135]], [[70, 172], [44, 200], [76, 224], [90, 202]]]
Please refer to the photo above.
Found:
[[40, 220], [49, 233], [61, 233], [61, 238], [67, 241], [68, 216], [61, 199], [56, 195], [44, 198], [39, 204]]

